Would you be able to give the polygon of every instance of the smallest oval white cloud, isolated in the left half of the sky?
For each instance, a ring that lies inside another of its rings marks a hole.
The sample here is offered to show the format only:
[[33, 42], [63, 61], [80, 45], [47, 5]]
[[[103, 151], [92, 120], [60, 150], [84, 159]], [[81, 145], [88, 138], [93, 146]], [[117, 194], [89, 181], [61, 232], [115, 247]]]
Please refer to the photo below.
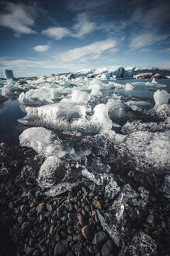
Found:
[[71, 35], [71, 31], [65, 27], [49, 27], [47, 30], [43, 30], [42, 33], [48, 37], [54, 37], [56, 40]]

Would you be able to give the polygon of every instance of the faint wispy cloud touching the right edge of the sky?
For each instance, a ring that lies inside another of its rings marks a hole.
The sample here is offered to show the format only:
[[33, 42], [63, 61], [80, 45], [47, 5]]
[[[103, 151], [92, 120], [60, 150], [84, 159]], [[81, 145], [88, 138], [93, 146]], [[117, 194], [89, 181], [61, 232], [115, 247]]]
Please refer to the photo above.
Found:
[[144, 31], [144, 33], [137, 34], [131, 39], [130, 51], [128, 52], [150, 46], [151, 44], [155, 44], [160, 41], [164, 41], [167, 38], [168, 34], [158, 34], [154, 31]]

